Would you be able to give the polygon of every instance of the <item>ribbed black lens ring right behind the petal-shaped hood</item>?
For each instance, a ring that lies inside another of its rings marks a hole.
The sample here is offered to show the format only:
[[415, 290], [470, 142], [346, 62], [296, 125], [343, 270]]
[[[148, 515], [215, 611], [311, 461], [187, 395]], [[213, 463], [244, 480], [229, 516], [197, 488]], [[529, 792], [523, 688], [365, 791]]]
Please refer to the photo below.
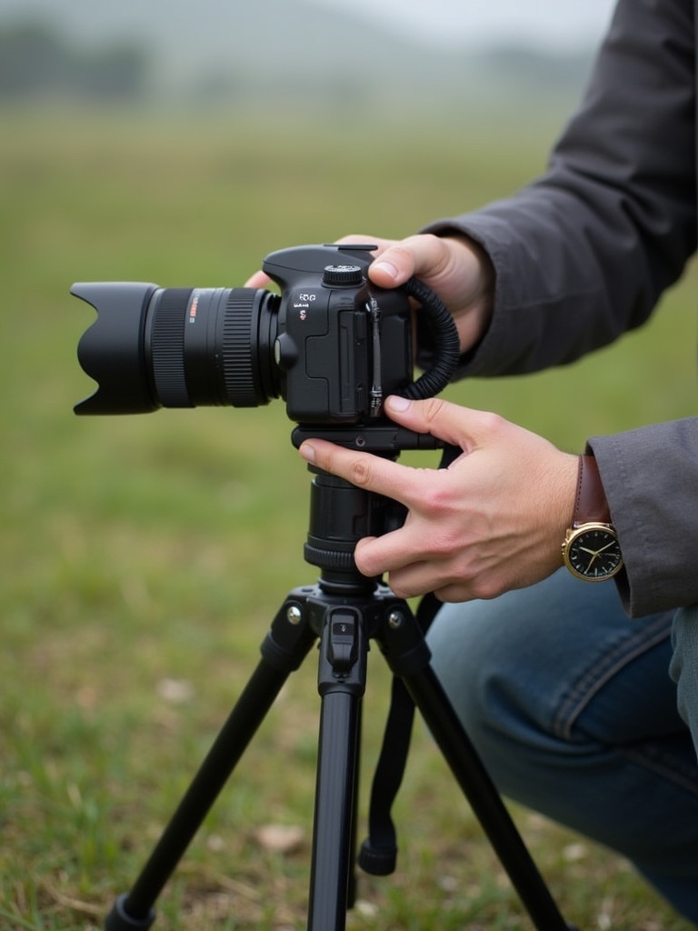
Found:
[[164, 407], [192, 407], [184, 376], [184, 317], [191, 288], [162, 292], [153, 321], [153, 375]]

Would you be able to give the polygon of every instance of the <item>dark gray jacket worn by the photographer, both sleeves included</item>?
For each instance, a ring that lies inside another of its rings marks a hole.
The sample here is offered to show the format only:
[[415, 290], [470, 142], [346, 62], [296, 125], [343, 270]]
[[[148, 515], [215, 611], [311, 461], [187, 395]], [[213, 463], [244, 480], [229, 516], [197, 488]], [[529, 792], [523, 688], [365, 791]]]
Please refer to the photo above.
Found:
[[[680, 276], [696, 246], [693, 6], [620, 0], [544, 177], [429, 227], [472, 236], [497, 273], [490, 330], [462, 376], [579, 358], [646, 320]], [[697, 603], [698, 417], [589, 445], [621, 539], [628, 613]]]

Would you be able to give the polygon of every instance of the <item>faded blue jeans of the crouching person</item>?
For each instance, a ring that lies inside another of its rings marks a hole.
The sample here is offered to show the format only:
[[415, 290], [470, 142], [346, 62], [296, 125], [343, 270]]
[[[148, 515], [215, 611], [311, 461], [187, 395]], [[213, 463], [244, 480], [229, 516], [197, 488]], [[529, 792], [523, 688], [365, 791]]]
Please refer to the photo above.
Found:
[[669, 677], [672, 623], [630, 620], [612, 582], [560, 570], [445, 605], [428, 639], [503, 795], [628, 857], [698, 924], [698, 762]]

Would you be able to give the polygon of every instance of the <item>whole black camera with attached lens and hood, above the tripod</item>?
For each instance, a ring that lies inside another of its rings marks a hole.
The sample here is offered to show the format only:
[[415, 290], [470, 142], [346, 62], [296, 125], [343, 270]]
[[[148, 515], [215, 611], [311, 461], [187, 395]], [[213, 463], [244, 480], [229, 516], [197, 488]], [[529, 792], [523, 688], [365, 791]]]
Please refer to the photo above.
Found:
[[[99, 315], [78, 347], [80, 364], [99, 387], [75, 412], [258, 407], [284, 398], [291, 420], [332, 427], [380, 419], [387, 394], [436, 394], [458, 358], [450, 314], [414, 280], [396, 290], [369, 284], [374, 249], [273, 252], [262, 268], [280, 294], [75, 284], [72, 293]], [[418, 383], [412, 379], [410, 294], [428, 309], [438, 348], [436, 365]]]

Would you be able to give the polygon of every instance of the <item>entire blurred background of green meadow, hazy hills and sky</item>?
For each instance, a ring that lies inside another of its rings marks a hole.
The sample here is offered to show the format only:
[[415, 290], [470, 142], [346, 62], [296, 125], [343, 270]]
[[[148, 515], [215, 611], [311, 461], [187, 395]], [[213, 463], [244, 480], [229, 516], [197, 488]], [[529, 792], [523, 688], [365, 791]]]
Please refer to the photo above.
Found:
[[[544, 168], [610, 16], [610, 0], [0, 0], [0, 926], [99, 926], [287, 591], [315, 581], [283, 403], [74, 417], [93, 312], [71, 284], [240, 286], [269, 251], [405, 236], [506, 196]], [[573, 451], [689, 414], [692, 277], [659, 327], [448, 396]], [[162, 926], [304, 926], [314, 665], [168, 886]], [[367, 785], [388, 684], [371, 656]], [[530, 926], [420, 727], [397, 804], [398, 873], [362, 880], [351, 926]], [[622, 860], [514, 811], [570, 921], [685, 927]]]

